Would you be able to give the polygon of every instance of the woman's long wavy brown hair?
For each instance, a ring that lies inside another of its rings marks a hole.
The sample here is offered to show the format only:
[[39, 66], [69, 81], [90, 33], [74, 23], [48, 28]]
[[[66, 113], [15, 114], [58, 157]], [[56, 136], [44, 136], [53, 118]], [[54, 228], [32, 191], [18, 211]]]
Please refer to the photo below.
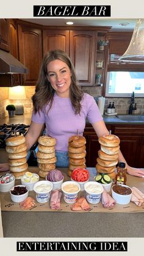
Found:
[[56, 49], [54, 51], [49, 51], [45, 54], [43, 63], [41, 65], [40, 76], [38, 78], [37, 86], [35, 87], [35, 94], [32, 97], [32, 102], [34, 105], [34, 112], [39, 112], [49, 104], [49, 109], [51, 109], [52, 101], [54, 98], [55, 90], [52, 88], [51, 83], [48, 81], [47, 65], [52, 60], [59, 59], [65, 62], [71, 71], [71, 85], [70, 85], [70, 100], [74, 108], [75, 114], [80, 114], [81, 111], [81, 100], [84, 93], [81, 91], [77, 84], [76, 72], [74, 70], [73, 64], [67, 54], [61, 49]]

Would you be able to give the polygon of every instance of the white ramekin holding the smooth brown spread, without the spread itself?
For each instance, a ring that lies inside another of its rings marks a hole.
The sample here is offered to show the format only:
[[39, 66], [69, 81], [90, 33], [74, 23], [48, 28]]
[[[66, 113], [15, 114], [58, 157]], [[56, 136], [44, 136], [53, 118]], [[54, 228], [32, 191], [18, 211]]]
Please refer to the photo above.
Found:
[[[113, 185], [113, 186], [115, 186], [115, 185]], [[117, 203], [119, 203], [120, 205], [127, 205], [128, 203], [130, 203], [131, 197], [132, 197], [132, 192], [129, 195], [121, 195], [121, 194], [118, 194], [117, 192], [113, 191], [113, 186], [112, 186], [112, 197], [113, 197], [113, 199], [115, 199], [115, 201]], [[126, 186], [126, 185], [119, 185], [119, 186], [130, 188], [129, 186]]]

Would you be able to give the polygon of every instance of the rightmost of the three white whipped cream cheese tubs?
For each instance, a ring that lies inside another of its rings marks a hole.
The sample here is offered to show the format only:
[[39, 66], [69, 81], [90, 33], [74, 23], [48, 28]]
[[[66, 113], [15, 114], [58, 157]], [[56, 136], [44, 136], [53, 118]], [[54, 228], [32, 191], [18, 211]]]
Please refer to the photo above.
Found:
[[[91, 191], [93, 189], [96, 189]], [[98, 183], [97, 181], [88, 181], [84, 185], [85, 193], [86, 193], [86, 199], [89, 203], [99, 203], [101, 200], [101, 194], [103, 193], [104, 189], [101, 183]]]

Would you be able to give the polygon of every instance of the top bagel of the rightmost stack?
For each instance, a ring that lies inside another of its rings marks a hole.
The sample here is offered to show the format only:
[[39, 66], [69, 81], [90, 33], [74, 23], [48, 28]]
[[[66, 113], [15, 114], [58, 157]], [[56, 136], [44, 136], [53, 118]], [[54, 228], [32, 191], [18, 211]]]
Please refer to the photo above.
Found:
[[117, 147], [120, 144], [120, 139], [114, 134], [104, 135], [98, 138], [101, 145], [106, 147]]

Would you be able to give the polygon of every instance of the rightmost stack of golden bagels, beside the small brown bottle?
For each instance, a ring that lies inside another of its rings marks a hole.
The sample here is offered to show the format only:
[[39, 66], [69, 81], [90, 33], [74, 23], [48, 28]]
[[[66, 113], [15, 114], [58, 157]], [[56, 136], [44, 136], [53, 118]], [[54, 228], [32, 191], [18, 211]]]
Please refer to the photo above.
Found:
[[120, 139], [116, 135], [109, 134], [99, 137], [98, 141], [101, 144], [101, 149], [98, 151], [99, 157], [96, 159], [96, 170], [101, 174], [109, 174], [114, 180], [115, 167], [118, 163]]

